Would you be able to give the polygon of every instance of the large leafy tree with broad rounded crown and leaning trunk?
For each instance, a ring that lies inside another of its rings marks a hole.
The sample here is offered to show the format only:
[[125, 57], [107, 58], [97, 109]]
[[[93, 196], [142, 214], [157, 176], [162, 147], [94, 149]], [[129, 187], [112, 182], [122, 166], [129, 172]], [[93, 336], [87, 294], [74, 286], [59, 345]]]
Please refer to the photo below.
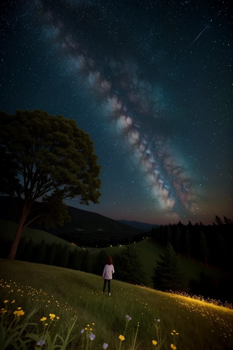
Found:
[[99, 203], [101, 167], [93, 141], [75, 120], [41, 110], [0, 112], [0, 157], [0, 193], [14, 198], [19, 213], [9, 259], [30, 223], [49, 227], [70, 219], [64, 199]]

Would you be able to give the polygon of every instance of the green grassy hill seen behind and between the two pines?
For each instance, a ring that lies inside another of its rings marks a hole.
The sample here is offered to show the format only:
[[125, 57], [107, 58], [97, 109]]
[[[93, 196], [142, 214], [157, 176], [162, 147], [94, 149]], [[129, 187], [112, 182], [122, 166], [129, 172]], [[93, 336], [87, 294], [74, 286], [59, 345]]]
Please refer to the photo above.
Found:
[[[122, 246], [108, 247], [103, 250], [106, 251], [107, 255], [113, 255], [123, 249]], [[141, 264], [143, 265], [143, 270], [145, 272], [148, 287], [153, 287], [151, 276], [154, 274], [154, 267], [156, 267], [156, 260], [159, 260], [159, 254], [163, 254], [164, 248], [158, 246], [152, 239], [146, 239], [136, 244], [136, 249], [139, 254]], [[94, 262], [96, 255], [101, 249], [95, 249], [90, 251], [91, 260]], [[199, 263], [196, 260], [188, 259], [186, 257], [181, 257], [181, 264], [183, 272], [187, 279], [197, 279], [200, 272], [205, 272], [207, 275], [217, 278], [220, 276], [220, 272], [211, 267], [206, 267], [205, 265]]]

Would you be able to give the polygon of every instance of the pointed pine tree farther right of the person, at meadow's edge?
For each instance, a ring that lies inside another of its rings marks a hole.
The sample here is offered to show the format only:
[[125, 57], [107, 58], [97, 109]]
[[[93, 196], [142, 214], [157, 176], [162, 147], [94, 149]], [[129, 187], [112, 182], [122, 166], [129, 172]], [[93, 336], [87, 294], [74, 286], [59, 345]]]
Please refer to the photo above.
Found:
[[157, 267], [154, 268], [152, 281], [154, 288], [160, 290], [183, 290], [184, 277], [180, 256], [175, 253], [173, 246], [168, 243], [164, 255], [159, 255]]

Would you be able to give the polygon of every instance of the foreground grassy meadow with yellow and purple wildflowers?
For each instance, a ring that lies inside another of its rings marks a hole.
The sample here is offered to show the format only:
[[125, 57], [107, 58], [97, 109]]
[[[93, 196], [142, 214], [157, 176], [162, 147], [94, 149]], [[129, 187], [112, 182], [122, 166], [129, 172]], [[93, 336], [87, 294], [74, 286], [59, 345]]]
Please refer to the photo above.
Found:
[[115, 280], [109, 296], [100, 276], [24, 261], [0, 271], [1, 349], [233, 348], [231, 309]]

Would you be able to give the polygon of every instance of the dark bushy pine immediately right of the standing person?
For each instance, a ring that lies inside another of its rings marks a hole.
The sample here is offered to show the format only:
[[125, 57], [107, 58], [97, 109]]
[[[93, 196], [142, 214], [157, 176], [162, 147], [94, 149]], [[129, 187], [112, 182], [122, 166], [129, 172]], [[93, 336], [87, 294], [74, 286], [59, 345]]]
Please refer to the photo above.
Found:
[[120, 281], [146, 284], [143, 267], [141, 265], [135, 245], [127, 245], [114, 259], [115, 277]]

